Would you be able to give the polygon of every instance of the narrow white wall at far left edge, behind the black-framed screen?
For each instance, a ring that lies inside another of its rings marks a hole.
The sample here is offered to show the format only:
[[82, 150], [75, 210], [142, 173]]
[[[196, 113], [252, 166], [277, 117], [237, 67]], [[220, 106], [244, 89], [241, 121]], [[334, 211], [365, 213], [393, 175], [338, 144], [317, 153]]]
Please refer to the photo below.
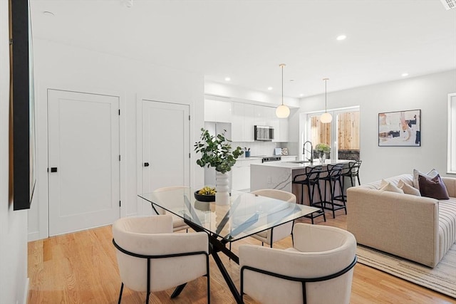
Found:
[[9, 130], [8, 1], [0, 1], [0, 303], [26, 303], [27, 212], [8, 198]]

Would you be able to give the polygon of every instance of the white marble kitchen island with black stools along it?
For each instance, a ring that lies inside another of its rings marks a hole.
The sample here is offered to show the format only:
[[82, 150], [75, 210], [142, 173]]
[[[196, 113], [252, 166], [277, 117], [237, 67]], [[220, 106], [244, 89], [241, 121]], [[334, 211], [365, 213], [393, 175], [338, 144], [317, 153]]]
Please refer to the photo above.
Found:
[[[328, 164], [346, 164], [352, 160], [346, 159], [326, 159], [322, 171], [326, 171]], [[258, 189], [279, 189], [291, 192], [296, 195], [296, 202], [301, 202], [301, 185], [293, 185], [292, 181], [298, 174], [304, 174], [306, 167], [314, 167], [320, 164], [318, 159], [314, 162], [294, 161], [294, 162], [265, 162], [262, 164], [250, 165], [250, 191]], [[325, 174], [325, 173], [322, 173]], [[326, 175], [326, 174], [325, 174]], [[347, 184], [347, 183], [346, 183]], [[340, 192], [340, 189], [336, 189]], [[329, 193], [329, 190], [328, 190]], [[318, 195], [318, 194], [317, 194]], [[321, 195], [324, 196], [324, 184], [321, 183]], [[327, 194], [328, 195], [328, 194]], [[336, 195], [338, 193], [336, 192]], [[319, 197], [316, 201], [319, 200]], [[304, 204], [308, 203], [309, 198], [304, 195]]]

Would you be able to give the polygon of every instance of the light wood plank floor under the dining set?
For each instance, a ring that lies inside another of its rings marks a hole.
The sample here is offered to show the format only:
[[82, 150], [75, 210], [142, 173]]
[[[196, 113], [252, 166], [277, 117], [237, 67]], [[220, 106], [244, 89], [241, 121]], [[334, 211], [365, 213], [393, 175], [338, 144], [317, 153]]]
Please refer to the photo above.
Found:
[[[326, 223], [318, 224], [346, 229], [346, 216], [343, 211], [338, 212], [336, 219], [327, 213]], [[28, 243], [28, 304], [117, 303], [120, 277], [111, 240], [111, 227], [104, 226]], [[233, 251], [237, 253], [242, 243], [261, 245], [247, 238], [234, 242]], [[288, 247], [291, 247], [291, 238], [274, 244], [274, 248]], [[221, 257], [239, 287], [239, 266], [223, 254]], [[212, 258], [210, 267], [212, 303], [234, 303]], [[173, 300], [170, 300], [171, 293], [172, 290], [152, 293], [150, 303], [206, 303], [206, 278], [188, 283]], [[248, 296], [244, 299], [246, 303], [254, 303]], [[145, 293], [124, 288], [122, 303], [144, 301]], [[358, 263], [353, 276], [351, 303], [456, 303], [456, 300]]]

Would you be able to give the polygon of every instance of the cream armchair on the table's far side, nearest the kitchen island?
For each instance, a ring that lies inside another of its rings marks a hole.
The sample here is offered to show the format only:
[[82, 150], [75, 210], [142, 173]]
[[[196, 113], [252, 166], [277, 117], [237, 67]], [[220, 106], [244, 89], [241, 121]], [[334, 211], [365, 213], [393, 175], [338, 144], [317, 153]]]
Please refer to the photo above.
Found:
[[[252, 191], [253, 194], [259, 196], [267, 196], [273, 199], [280, 199], [281, 201], [289, 201], [290, 203], [296, 204], [296, 196], [290, 192], [277, 189], [261, 189]], [[258, 234], [252, 235], [254, 239], [261, 241], [261, 244], [267, 243], [272, 248], [272, 244], [281, 239], [285, 239], [287, 236], [291, 235], [293, 231], [293, 221], [289, 223], [281, 224], [274, 227], [273, 229], [268, 229], [266, 231], [261, 231]]]

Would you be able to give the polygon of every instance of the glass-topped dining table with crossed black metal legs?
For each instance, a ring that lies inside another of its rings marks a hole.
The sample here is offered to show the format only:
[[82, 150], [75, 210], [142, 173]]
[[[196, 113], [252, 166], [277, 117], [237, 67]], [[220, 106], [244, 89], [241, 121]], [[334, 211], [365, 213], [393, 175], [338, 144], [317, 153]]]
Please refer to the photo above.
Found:
[[239, 257], [227, 248], [227, 243], [239, 241], [319, 210], [311, 206], [234, 191], [229, 204], [218, 205], [214, 202], [197, 201], [194, 192], [195, 189], [191, 187], [170, 187], [138, 196], [149, 201], [155, 211], [157, 207], [165, 209], [184, 219], [185, 224], [195, 231], [205, 231], [208, 234], [210, 253], [237, 303], [241, 303], [239, 291], [218, 253], [224, 253], [239, 264]]

